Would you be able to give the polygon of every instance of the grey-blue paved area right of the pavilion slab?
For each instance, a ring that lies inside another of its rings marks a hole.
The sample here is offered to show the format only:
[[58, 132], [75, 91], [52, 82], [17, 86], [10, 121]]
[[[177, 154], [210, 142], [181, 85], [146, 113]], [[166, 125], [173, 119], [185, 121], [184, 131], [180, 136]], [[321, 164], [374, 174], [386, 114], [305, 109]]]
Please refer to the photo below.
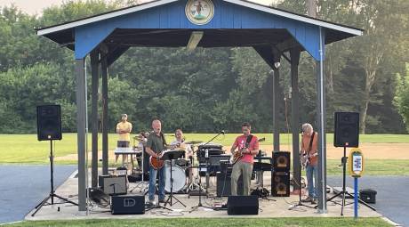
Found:
[[[327, 177], [330, 186], [342, 185], [342, 177]], [[347, 176], [347, 186], [354, 188], [353, 178]], [[390, 220], [409, 227], [409, 176], [364, 176], [358, 180], [359, 189], [377, 191], [376, 204], [371, 204]], [[330, 194], [328, 196], [331, 196]]]

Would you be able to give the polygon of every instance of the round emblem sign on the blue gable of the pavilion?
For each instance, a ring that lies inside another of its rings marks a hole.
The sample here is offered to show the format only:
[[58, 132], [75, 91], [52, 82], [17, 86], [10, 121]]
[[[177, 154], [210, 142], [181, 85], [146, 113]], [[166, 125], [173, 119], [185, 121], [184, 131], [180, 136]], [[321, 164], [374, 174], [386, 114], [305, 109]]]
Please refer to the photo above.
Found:
[[188, 0], [186, 16], [196, 25], [207, 24], [213, 18], [214, 5], [211, 0]]

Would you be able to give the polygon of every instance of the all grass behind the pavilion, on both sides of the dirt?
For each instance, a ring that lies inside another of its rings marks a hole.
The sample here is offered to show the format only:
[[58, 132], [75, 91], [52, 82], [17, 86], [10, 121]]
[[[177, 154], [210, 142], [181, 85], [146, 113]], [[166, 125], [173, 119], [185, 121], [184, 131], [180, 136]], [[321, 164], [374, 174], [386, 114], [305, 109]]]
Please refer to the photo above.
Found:
[[[238, 134], [221, 135], [214, 142], [229, 146]], [[261, 144], [272, 144], [272, 134], [256, 134], [265, 137]], [[207, 141], [214, 134], [185, 134], [187, 141]], [[101, 137], [99, 142], [101, 143]], [[116, 147], [116, 134], [109, 134], [109, 149]], [[174, 137], [167, 134], [167, 141]], [[281, 134], [280, 142], [285, 145], [292, 142], [292, 136]], [[333, 134], [327, 134], [328, 143], [333, 140]], [[360, 136], [360, 142], [409, 142], [409, 134], [365, 134]], [[91, 150], [91, 135], [89, 136], [89, 150]], [[101, 144], [100, 144], [101, 146]], [[0, 164], [48, 164], [49, 142], [38, 142], [36, 134], [0, 134]], [[55, 141], [54, 155], [56, 157], [76, 153], [76, 134], [63, 134], [61, 141]], [[76, 161], [56, 161], [57, 164], [73, 164]], [[327, 161], [327, 174], [341, 174], [341, 160]], [[398, 168], [396, 166], [399, 166]], [[402, 159], [370, 159], [365, 162], [365, 174], [369, 175], [409, 175], [409, 160]]]

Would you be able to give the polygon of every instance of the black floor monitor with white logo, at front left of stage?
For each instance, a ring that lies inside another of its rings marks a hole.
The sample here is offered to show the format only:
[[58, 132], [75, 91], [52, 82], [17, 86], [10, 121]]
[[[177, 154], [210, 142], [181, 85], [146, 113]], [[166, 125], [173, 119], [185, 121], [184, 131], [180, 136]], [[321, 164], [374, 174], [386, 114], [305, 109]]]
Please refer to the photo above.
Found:
[[145, 214], [144, 196], [113, 196], [111, 202], [112, 215]]

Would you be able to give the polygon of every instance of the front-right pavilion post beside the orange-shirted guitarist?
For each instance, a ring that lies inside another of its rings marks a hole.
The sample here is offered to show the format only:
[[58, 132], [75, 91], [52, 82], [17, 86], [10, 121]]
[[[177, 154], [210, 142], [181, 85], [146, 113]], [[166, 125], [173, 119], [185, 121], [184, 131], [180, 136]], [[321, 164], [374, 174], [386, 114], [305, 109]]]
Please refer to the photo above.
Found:
[[324, 77], [324, 55], [325, 34], [319, 28], [320, 34], [320, 61], [317, 61], [317, 133], [318, 133], [318, 213], [327, 213], [326, 209], [326, 134], [325, 134], [325, 77]]

